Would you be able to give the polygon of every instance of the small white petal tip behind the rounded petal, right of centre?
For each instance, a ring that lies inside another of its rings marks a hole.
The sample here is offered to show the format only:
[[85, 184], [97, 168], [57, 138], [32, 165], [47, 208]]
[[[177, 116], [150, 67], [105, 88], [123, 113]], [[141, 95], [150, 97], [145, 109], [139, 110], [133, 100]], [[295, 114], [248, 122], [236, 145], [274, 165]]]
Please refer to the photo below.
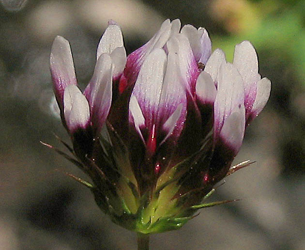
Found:
[[226, 55], [225, 53], [220, 49], [217, 48], [213, 51], [212, 55], [210, 56], [208, 62], [206, 63], [204, 67], [204, 71], [209, 73], [215, 83], [215, 86], [217, 87], [217, 75], [219, 72], [219, 68], [221, 64], [226, 63]]

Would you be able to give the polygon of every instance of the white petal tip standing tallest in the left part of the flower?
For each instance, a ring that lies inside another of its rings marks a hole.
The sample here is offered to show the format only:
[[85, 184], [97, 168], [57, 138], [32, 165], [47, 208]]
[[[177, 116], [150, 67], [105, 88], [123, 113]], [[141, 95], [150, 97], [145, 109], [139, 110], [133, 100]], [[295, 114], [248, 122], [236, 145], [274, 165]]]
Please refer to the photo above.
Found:
[[98, 44], [96, 60], [103, 53], [111, 54], [117, 47], [124, 47], [122, 31], [119, 25], [110, 24]]

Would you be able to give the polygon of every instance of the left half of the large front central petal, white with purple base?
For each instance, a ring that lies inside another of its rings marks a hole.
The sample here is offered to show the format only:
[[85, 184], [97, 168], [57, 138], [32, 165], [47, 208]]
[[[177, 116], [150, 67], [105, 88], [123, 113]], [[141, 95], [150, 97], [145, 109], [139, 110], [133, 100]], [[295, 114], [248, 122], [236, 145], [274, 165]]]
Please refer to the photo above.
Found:
[[154, 49], [142, 64], [131, 95], [137, 98], [148, 130], [156, 122], [166, 62], [165, 51], [161, 48]]

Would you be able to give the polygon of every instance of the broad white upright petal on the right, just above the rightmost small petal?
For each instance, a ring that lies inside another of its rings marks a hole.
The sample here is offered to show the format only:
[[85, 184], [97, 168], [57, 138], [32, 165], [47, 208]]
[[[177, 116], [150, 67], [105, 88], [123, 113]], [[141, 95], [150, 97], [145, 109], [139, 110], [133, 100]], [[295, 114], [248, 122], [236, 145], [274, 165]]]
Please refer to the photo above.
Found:
[[251, 85], [260, 79], [258, 56], [249, 41], [244, 41], [235, 46], [233, 64], [244, 80], [245, 96], [247, 96]]

